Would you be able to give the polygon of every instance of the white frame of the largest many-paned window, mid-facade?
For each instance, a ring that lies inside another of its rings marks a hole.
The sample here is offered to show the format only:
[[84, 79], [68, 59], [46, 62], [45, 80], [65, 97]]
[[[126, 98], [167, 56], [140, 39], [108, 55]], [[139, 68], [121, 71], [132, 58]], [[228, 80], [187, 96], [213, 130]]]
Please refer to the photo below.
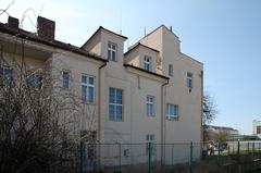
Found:
[[[114, 102], [110, 102], [110, 91], [111, 91], [111, 89], [114, 89]], [[119, 103], [117, 101], [116, 101], [116, 98], [117, 98], [117, 90], [120, 90], [121, 92], [122, 92], [122, 100], [121, 100], [121, 102], [122, 103]], [[120, 89], [120, 88], [114, 88], [114, 87], [109, 87], [109, 120], [110, 121], [123, 121], [123, 111], [124, 111], [124, 108], [123, 108], [123, 102], [124, 101], [124, 90], [123, 89]], [[114, 108], [114, 111], [113, 111], [113, 114], [111, 115], [110, 113], [111, 113], [111, 111], [110, 111], [110, 106], [113, 106], [113, 108]], [[119, 119], [117, 118], [117, 113], [116, 113], [116, 108], [117, 107], [121, 107], [121, 109], [122, 109], [122, 114], [121, 114], [121, 119]]]

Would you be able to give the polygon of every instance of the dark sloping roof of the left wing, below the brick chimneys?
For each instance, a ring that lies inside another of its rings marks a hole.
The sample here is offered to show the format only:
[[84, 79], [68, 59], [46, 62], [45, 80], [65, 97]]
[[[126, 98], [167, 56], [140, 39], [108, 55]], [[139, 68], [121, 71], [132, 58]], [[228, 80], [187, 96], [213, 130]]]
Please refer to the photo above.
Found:
[[54, 47], [54, 48], [60, 48], [60, 49], [63, 49], [63, 50], [67, 50], [67, 51], [71, 51], [71, 52], [74, 52], [74, 53], [77, 53], [77, 54], [82, 54], [82, 55], [85, 55], [85, 57], [88, 57], [90, 59], [95, 59], [95, 60], [98, 60], [98, 61], [102, 61], [102, 62], [108, 61], [108, 60], [104, 60], [104, 59], [102, 59], [101, 57], [99, 57], [95, 53], [90, 53], [88, 51], [85, 51], [85, 50], [83, 50], [83, 49], [80, 49], [76, 46], [71, 45], [71, 44], [62, 42], [62, 41], [59, 41], [59, 40], [51, 40], [50, 41], [50, 40], [47, 40], [45, 38], [41, 38], [41, 37], [37, 36], [36, 33], [26, 32], [26, 30], [21, 29], [21, 28], [10, 27], [8, 24], [0, 23], [0, 32], [9, 34], [9, 35], [13, 35], [13, 36], [18, 37], [18, 38], [24, 38], [24, 39], [27, 39], [27, 40], [30, 40], [30, 41], [35, 41], [35, 42], [44, 44], [44, 45], [51, 46], [51, 47]]

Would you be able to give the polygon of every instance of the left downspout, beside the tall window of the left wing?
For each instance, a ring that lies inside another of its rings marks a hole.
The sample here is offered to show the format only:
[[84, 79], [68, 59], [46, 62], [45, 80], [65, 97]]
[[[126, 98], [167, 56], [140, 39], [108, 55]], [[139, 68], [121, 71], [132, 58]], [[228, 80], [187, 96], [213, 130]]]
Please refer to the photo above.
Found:
[[98, 70], [98, 78], [99, 78], [99, 83], [98, 83], [98, 141], [100, 143], [101, 140], [101, 69], [107, 65], [105, 61]]

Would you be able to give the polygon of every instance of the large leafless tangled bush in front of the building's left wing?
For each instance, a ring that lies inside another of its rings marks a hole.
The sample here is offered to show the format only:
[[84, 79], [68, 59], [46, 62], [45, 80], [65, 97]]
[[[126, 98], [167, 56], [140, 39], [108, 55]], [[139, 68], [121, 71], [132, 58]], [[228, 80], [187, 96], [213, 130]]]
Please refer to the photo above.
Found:
[[[0, 57], [0, 172], [73, 172], [96, 107], [60, 87], [59, 65]], [[83, 124], [85, 122], [85, 124]], [[94, 140], [91, 140], [94, 143]]]

